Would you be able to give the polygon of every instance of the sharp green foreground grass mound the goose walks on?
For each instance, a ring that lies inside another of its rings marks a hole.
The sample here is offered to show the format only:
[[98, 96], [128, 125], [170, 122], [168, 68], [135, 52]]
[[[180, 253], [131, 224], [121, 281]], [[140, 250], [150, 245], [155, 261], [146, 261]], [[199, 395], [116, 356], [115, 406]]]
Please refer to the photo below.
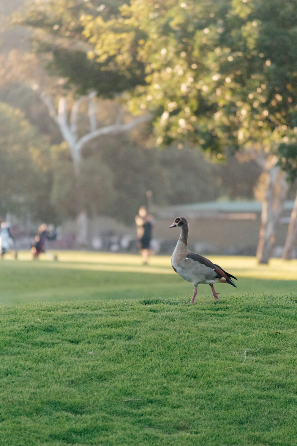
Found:
[[297, 293], [2, 305], [0, 321], [1, 445], [296, 445]]

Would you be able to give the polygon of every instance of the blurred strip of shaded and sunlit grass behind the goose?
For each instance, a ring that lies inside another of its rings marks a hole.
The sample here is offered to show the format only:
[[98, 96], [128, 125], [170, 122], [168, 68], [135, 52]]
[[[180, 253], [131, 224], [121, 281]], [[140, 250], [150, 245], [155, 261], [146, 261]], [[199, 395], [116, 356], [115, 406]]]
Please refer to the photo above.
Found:
[[[18, 261], [0, 261], [0, 302], [74, 301], [88, 299], [151, 298], [183, 296], [190, 300], [193, 286], [171, 268], [169, 256], [151, 257], [143, 266], [140, 256], [96, 252], [55, 252], [59, 261], [45, 255], [33, 262], [29, 252]], [[272, 259], [257, 265], [254, 257], [212, 258], [236, 277], [237, 289], [216, 285], [221, 297], [237, 293], [289, 293], [296, 289], [297, 260]], [[199, 296], [212, 299], [208, 285], [199, 285]]]

